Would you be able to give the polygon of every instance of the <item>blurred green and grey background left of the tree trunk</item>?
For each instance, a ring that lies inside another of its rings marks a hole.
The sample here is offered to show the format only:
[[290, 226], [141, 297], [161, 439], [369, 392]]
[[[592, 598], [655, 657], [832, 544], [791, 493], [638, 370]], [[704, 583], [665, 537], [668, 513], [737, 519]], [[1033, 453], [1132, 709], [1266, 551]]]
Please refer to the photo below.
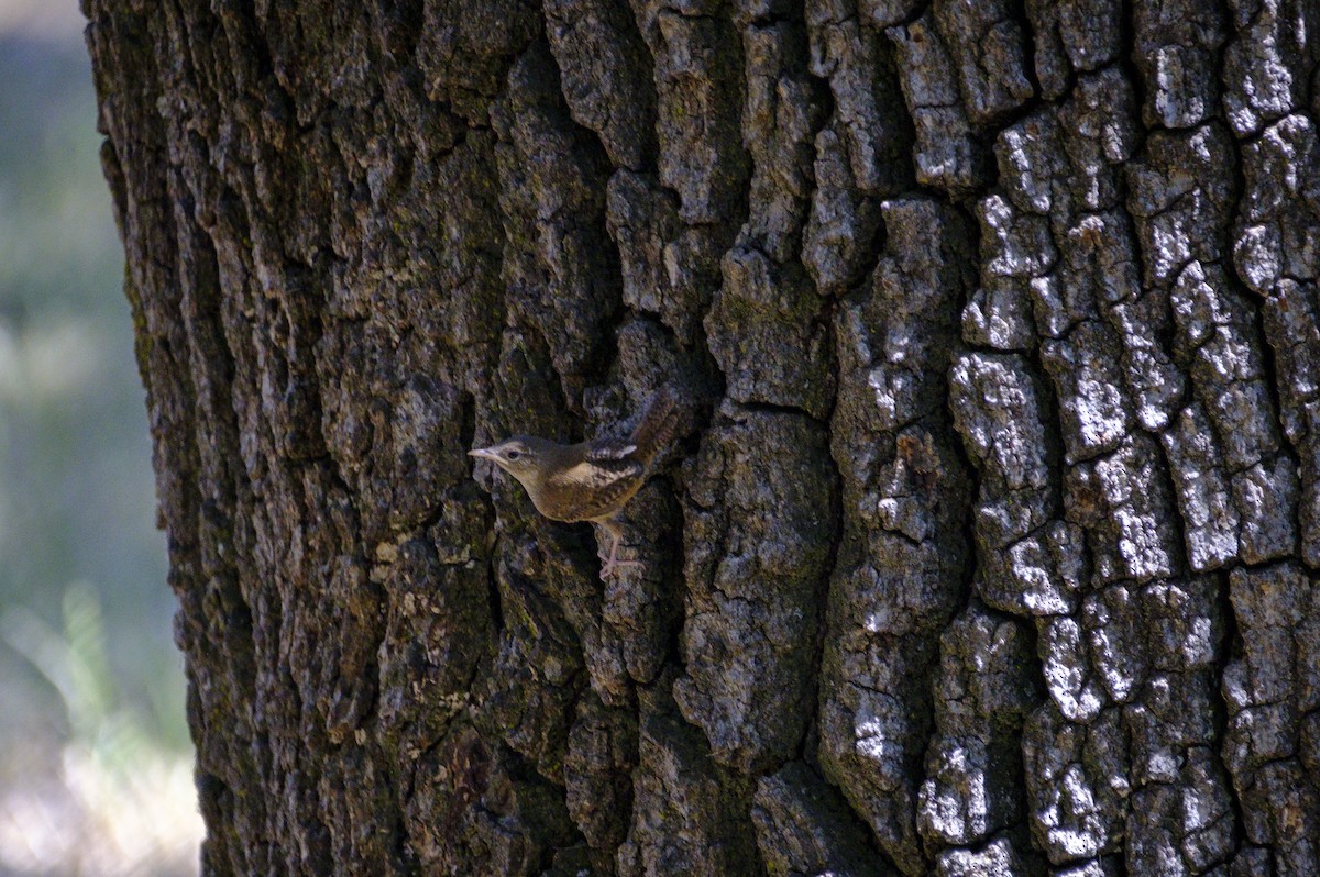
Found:
[[84, 26], [0, 0], [0, 874], [185, 874], [183, 674]]

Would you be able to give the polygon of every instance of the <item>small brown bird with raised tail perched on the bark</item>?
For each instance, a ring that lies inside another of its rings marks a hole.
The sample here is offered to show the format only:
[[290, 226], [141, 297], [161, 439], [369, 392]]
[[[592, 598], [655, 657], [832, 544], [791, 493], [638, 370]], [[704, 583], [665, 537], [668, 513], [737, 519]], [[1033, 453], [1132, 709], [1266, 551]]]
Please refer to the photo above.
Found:
[[619, 512], [645, 484], [651, 462], [673, 438], [678, 410], [668, 389], [647, 402], [636, 429], [627, 438], [602, 438], [579, 444], [557, 444], [531, 435], [469, 451], [516, 477], [532, 505], [554, 521], [591, 521], [606, 529], [614, 545], [601, 567], [601, 578], [638, 560], [619, 560]]

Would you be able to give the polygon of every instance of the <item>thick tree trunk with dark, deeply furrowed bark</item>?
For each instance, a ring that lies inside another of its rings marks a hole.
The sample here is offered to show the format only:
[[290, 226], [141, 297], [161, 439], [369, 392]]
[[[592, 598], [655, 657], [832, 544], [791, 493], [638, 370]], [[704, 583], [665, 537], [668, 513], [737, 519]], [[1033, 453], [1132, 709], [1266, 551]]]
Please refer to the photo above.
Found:
[[84, 1], [207, 874], [1320, 873], [1315, 0]]

